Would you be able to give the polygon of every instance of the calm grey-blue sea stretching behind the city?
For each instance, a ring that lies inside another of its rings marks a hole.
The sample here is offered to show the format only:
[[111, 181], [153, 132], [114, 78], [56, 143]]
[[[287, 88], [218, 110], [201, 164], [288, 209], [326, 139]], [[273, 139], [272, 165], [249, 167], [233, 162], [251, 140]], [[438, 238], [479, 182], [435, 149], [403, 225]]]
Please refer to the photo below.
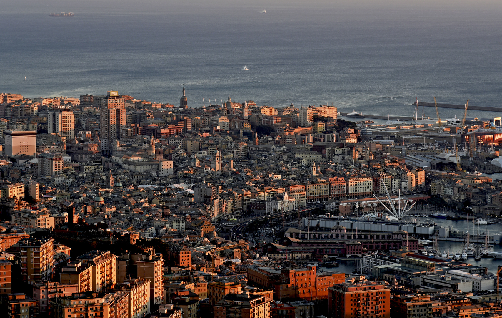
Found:
[[118, 90], [177, 104], [185, 84], [189, 107], [502, 107], [499, 1], [3, 0], [0, 35], [0, 92], [27, 97]]

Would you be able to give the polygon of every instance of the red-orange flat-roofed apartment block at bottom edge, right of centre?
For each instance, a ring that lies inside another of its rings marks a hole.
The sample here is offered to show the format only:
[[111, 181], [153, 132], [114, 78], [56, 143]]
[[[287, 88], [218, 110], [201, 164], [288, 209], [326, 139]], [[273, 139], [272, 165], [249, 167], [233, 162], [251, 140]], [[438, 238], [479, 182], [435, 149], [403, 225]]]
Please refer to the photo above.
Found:
[[391, 289], [384, 284], [353, 277], [329, 287], [330, 318], [390, 318]]

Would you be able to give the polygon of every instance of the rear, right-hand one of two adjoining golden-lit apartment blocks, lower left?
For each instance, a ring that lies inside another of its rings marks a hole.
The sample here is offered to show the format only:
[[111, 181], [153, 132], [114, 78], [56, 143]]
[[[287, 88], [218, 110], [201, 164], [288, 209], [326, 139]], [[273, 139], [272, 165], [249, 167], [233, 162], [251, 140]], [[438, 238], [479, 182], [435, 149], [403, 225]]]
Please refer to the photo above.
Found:
[[76, 258], [76, 261], [91, 264], [91, 290], [102, 291], [115, 286], [115, 259], [110, 251], [90, 251]]

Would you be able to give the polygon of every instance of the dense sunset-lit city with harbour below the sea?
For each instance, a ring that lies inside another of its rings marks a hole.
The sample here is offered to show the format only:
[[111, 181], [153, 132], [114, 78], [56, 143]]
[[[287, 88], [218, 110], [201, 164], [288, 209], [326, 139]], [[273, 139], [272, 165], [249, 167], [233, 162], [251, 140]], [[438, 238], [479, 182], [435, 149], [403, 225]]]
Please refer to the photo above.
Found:
[[500, 118], [181, 94], [0, 93], [2, 316], [502, 317]]

